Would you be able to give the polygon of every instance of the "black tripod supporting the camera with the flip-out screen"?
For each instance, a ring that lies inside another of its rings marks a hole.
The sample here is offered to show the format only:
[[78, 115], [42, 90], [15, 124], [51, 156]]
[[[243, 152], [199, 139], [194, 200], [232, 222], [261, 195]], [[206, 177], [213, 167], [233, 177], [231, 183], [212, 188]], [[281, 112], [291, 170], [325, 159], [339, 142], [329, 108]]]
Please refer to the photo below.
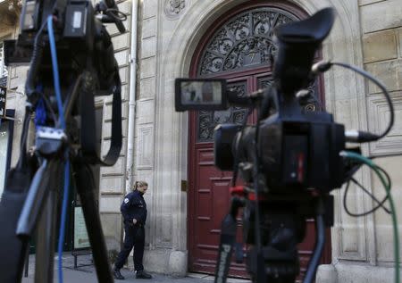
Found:
[[[243, 262], [242, 245], [236, 244], [236, 217], [243, 210], [243, 237], [247, 243], [247, 271], [253, 282], [293, 283], [299, 273], [297, 244], [306, 237], [306, 219], [315, 219], [316, 241], [314, 253], [308, 264], [304, 282], [314, 280], [325, 242], [325, 226], [333, 223], [332, 196], [313, 196], [295, 193], [293, 196], [261, 194], [258, 202], [249, 188], [232, 187], [233, 196], [230, 212], [222, 221], [221, 244], [215, 283], [226, 282], [231, 254], [236, 262]], [[261, 218], [256, 219], [259, 205]], [[260, 234], [261, 246], [256, 245], [255, 236]]]

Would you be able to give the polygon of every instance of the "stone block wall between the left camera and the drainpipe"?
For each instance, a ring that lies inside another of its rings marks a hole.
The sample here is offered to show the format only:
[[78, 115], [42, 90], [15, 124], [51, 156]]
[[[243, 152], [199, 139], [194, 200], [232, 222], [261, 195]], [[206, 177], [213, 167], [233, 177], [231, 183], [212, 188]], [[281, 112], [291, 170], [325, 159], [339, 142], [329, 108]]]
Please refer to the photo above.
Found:
[[[99, 212], [109, 250], [120, 251], [122, 242], [122, 221], [120, 205], [126, 195], [127, 131], [130, 89], [130, 40], [131, 40], [131, 1], [118, 2], [119, 10], [128, 15], [123, 21], [126, 32], [121, 34], [114, 24], [106, 27], [112, 37], [114, 54], [121, 77], [121, 122], [122, 148], [118, 161], [112, 167], [101, 167], [99, 183]], [[96, 105], [103, 107], [101, 155], [107, 154], [112, 135], [112, 96], [97, 97]], [[130, 158], [130, 157], [129, 157]]]

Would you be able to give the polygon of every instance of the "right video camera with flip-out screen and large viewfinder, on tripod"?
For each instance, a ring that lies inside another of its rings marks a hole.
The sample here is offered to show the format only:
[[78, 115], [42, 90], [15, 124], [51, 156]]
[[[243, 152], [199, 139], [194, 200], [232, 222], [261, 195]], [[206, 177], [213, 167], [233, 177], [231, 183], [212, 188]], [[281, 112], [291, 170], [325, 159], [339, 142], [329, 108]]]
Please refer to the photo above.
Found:
[[[225, 79], [175, 81], [178, 112], [225, 110], [230, 106], [247, 107], [249, 113], [257, 109], [255, 125], [247, 126], [246, 117], [242, 125], [220, 124], [214, 129], [215, 166], [233, 171], [233, 198], [230, 213], [222, 221], [215, 283], [225, 282], [228, 274], [239, 207], [244, 207], [247, 271], [258, 283], [295, 281], [299, 273], [297, 244], [305, 237], [306, 219], [315, 219], [315, 249], [304, 281], [312, 282], [322, 254], [325, 226], [333, 225], [330, 192], [356, 172], [356, 163], [346, 161], [342, 154], [346, 142], [383, 137], [346, 132], [331, 113], [306, 112], [300, 104], [316, 75], [331, 67], [330, 62], [314, 64], [314, 55], [334, 19], [333, 9], [326, 8], [304, 21], [274, 29], [274, 82], [267, 89], [239, 96], [227, 89]], [[390, 102], [389, 107], [392, 110]], [[245, 186], [236, 186], [238, 172]], [[241, 246], [236, 260], [243, 260]]]

